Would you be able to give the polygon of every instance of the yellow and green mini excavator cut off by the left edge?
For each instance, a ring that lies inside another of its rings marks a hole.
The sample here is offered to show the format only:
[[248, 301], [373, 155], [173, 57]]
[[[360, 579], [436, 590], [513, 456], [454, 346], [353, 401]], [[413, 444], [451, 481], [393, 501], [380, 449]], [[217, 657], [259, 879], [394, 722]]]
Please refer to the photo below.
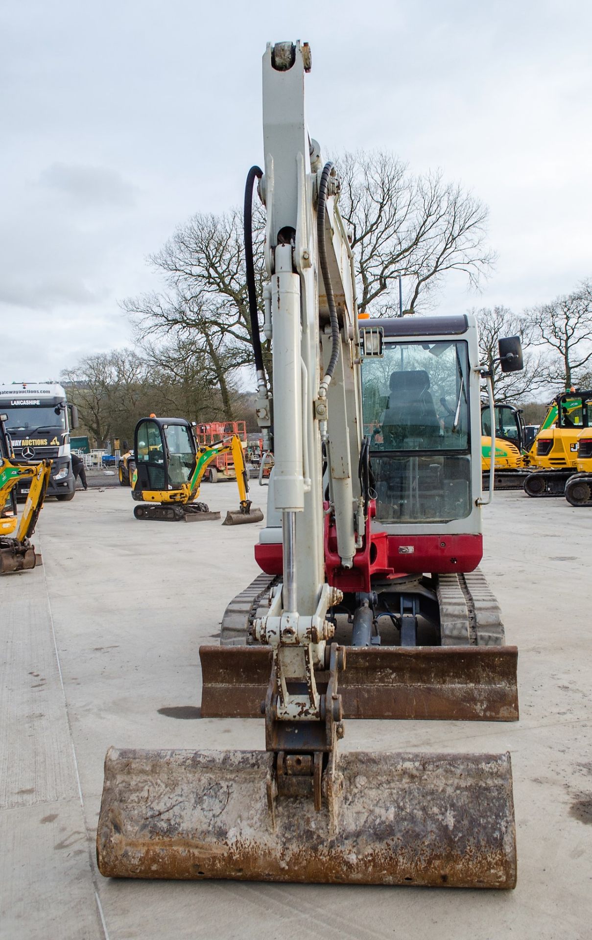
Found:
[[[35, 568], [37, 556], [30, 537], [35, 531], [52, 469], [51, 461], [15, 460], [4, 423], [6, 418], [7, 415], [0, 415], [0, 574]], [[15, 490], [18, 483], [29, 480], [29, 492], [19, 522]]]

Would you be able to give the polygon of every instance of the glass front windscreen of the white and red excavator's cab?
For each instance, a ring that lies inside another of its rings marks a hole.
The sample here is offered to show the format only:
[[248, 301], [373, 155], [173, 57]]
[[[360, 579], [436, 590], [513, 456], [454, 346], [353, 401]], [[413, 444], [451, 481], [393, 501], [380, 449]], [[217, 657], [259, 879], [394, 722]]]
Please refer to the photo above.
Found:
[[[425, 320], [414, 323], [431, 331], [422, 341], [384, 321], [383, 358], [362, 368], [376, 521], [385, 525], [446, 524], [470, 516], [474, 503], [467, 339], [434, 339], [445, 326]], [[464, 317], [448, 320], [457, 334], [466, 330]]]

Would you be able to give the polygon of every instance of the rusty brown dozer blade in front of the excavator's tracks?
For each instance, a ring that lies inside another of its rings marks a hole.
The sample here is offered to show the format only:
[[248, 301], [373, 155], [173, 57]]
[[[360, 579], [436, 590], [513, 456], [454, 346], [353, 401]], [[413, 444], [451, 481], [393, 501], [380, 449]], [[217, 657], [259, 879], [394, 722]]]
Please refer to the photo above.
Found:
[[[347, 647], [345, 718], [518, 721], [516, 647]], [[204, 718], [257, 718], [272, 669], [264, 646], [199, 648]], [[328, 673], [316, 673], [325, 691]]]

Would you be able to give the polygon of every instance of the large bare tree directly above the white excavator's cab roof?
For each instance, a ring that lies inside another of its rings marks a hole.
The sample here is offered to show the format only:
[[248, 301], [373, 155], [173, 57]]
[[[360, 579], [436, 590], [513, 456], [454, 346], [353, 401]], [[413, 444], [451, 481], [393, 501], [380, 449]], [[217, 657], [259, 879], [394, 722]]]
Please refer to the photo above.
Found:
[[495, 259], [486, 245], [488, 209], [460, 185], [445, 183], [439, 172], [414, 177], [381, 150], [348, 152], [336, 163], [361, 312], [393, 316], [399, 274], [411, 312], [450, 272], [465, 274], [474, 288], [488, 274]]

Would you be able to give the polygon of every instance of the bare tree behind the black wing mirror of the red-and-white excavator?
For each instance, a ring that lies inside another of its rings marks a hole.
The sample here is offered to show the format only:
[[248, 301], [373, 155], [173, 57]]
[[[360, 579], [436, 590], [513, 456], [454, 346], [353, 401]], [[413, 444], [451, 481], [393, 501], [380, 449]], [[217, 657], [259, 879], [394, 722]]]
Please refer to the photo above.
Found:
[[[549, 384], [544, 356], [529, 348], [533, 342], [531, 322], [506, 306], [481, 307], [471, 311], [479, 325], [479, 358], [491, 371], [496, 401], [523, 401]], [[498, 342], [502, 337], [520, 337], [524, 353], [521, 372], [502, 372]]]

